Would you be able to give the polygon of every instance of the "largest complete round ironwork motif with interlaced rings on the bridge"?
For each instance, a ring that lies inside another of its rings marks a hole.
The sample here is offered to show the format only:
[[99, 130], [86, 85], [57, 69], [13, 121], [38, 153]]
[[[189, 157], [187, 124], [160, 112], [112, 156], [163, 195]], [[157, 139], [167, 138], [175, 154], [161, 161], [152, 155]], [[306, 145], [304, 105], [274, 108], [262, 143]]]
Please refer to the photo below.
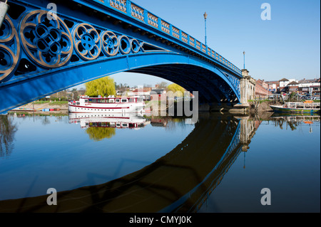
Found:
[[24, 50], [36, 63], [47, 68], [57, 68], [68, 63], [73, 53], [71, 33], [58, 16], [47, 18], [49, 11], [31, 11], [24, 16], [20, 26]]

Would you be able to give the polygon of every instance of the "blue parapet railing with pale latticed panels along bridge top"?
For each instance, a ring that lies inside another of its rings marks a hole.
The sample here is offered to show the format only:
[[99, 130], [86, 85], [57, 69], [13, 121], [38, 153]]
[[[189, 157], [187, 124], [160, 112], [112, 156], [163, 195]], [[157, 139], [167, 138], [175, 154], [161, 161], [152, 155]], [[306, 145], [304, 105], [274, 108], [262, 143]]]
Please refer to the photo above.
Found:
[[[78, 0], [81, 1], [81, 0]], [[160, 17], [152, 14], [143, 7], [138, 6], [138, 4], [133, 3], [131, 0], [91, 0], [96, 1], [99, 4], [103, 4], [111, 9], [119, 11], [127, 16], [130, 16], [133, 19], [140, 21], [141, 23], [145, 23], [148, 26], [158, 29], [169, 36], [177, 38], [179, 41], [182, 41], [184, 44], [187, 44], [191, 48], [194, 48], [195, 51], [201, 51], [202, 54], [206, 54], [209, 58], [213, 58], [213, 60], [218, 61], [222, 65], [230, 68], [230, 70], [235, 73], [241, 74], [241, 70], [237, 68], [235, 65], [230, 63], [230, 61], [226, 60], [220, 54], [205, 46], [205, 44], [197, 41], [195, 38], [188, 35], [184, 31], [179, 28], [173, 26], [171, 23], [161, 19]]]

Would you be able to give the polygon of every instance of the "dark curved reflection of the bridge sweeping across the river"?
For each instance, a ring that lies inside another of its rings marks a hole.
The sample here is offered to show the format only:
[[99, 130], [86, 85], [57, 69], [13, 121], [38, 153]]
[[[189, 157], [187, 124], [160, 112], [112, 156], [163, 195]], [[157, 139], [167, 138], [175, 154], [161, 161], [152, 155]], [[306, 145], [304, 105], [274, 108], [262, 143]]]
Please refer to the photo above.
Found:
[[195, 129], [141, 170], [95, 186], [0, 201], [0, 212], [196, 212], [220, 184], [258, 127], [233, 116], [200, 115]]

